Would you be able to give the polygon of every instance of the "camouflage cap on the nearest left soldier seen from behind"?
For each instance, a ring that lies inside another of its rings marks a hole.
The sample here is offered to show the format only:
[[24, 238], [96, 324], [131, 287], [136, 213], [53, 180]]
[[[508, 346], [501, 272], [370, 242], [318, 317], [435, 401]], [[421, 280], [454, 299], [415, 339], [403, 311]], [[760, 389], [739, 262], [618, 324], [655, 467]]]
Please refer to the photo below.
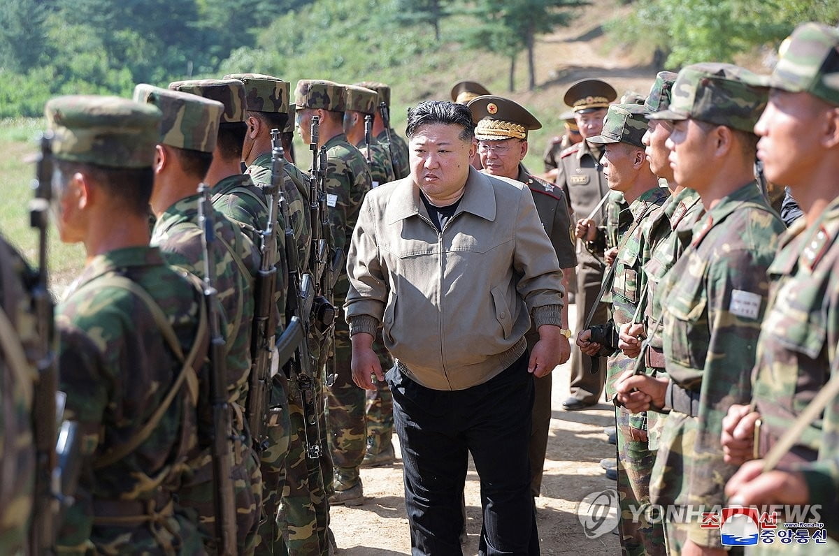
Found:
[[150, 168], [160, 111], [119, 96], [57, 96], [44, 107], [55, 158], [109, 168]]

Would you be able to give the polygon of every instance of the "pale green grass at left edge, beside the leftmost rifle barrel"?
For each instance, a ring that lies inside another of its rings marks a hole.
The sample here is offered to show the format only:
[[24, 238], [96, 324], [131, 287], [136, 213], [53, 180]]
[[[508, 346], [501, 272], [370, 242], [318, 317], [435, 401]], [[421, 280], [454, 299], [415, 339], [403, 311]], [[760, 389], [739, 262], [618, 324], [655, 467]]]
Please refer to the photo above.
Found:
[[[35, 138], [43, 128], [40, 118], [0, 121], [0, 233], [33, 266], [38, 264], [38, 231], [29, 226], [29, 201], [35, 169], [25, 158], [37, 153]], [[49, 238], [50, 284], [60, 294], [84, 265], [84, 250], [61, 243], [55, 226], [50, 226]]]

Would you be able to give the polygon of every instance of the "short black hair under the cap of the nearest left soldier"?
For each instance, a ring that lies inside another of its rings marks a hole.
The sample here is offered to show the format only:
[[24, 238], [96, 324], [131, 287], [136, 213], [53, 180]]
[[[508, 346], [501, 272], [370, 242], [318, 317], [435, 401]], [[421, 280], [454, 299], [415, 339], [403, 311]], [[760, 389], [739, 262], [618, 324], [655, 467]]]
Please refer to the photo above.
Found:
[[111, 168], [70, 160], [55, 160], [55, 167], [61, 174], [61, 185], [79, 172], [88, 176], [101, 187], [106, 195], [135, 216], [149, 215], [149, 200], [154, 185], [154, 170], [148, 168]]

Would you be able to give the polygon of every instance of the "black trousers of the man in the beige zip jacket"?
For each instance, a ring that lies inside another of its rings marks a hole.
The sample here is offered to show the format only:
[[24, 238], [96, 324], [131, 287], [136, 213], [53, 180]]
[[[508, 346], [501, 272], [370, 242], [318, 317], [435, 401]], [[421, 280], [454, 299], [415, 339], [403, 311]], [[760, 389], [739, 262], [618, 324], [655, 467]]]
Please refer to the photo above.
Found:
[[525, 352], [497, 377], [456, 391], [420, 386], [395, 367], [388, 372], [414, 555], [462, 553], [469, 453], [481, 480], [480, 553], [539, 554], [530, 494], [534, 385], [528, 361]]

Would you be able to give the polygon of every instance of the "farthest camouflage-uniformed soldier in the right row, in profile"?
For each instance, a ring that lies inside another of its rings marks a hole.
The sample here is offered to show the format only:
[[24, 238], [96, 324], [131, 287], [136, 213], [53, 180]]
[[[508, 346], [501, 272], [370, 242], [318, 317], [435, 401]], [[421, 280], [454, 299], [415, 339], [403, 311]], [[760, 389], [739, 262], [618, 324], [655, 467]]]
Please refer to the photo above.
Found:
[[[607, 175], [609, 188], [623, 193], [629, 203], [633, 221], [618, 243], [615, 260], [607, 273], [612, 303], [612, 320], [603, 327], [601, 337], [612, 339], [621, 325], [633, 322], [638, 314], [638, 304], [647, 287], [644, 279], [644, 236], [645, 226], [664, 201], [668, 190], [659, 187], [659, 180], [649, 168], [644, 153], [644, 133], [647, 132], [647, 107], [638, 104], [614, 104], [609, 107], [602, 133], [588, 141], [605, 144], [603, 174]], [[591, 339], [591, 329], [581, 332], [578, 345], [589, 355], [603, 350], [608, 354], [606, 375], [606, 396], [612, 401], [614, 383], [621, 373], [633, 366], [633, 358], [618, 351], [614, 344], [597, 344]], [[597, 351], [596, 351], [597, 350]], [[628, 554], [662, 554], [662, 535], [659, 543], [653, 543], [654, 528], [650, 524], [633, 519], [633, 508], [649, 505], [649, 471], [652, 469], [654, 452], [649, 449], [647, 418], [645, 414], [630, 415], [626, 408], [616, 408], [618, 438], [618, 493], [620, 494], [621, 546]]]

